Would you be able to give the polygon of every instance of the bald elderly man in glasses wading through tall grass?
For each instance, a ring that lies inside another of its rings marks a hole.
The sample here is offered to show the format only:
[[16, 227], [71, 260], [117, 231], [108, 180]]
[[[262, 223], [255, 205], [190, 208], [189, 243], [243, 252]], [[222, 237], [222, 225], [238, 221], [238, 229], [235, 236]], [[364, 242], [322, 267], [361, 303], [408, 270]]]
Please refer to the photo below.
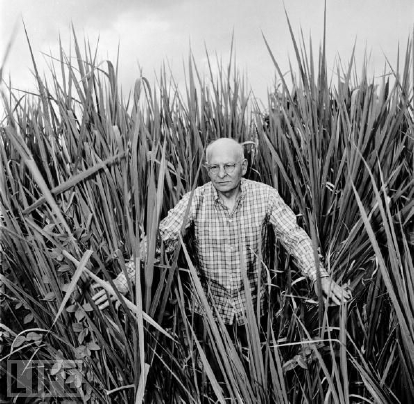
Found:
[[[184, 220], [185, 229], [193, 226], [201, 284], [206, 292], [209, 291], [223, 322], [226, 325], [242, 325], [246, 319], [246, 295], [240, 259], [247, 269], [253, 304], [256, 305], [259, 299], [261, 315], [266, 310], [265, 288], [263, 282], [259, 282], [263, 273], [260, 249], [266, 245], [262, 240], [262, 235], [266, 235], [262, 231], [264, 227], [268, 224], [273, 226], [275, 236], [295, 258], [303, 275], [313, 281], [317, 277], [314, 252], [310, 238], [297, 225], [295, 214], [277, 190], [243, 178], [247, 160], [242, 145], [222, 138], [207, 147], [206, 157], [211, 181], [196, 188], [191, 201], [190, 193], [184, 195], [160, 222], [160, 235], [166, 250], [171, 252], [179, 239]], [[350, 299], [350, 291], [335, 283], [320, 263], [319, 266], [325, 297], [335, 304]], [[128, 264], [127, 270], [133, 280], [133, 264]], [[123, 273], [114, 283], [122, 293], [127, 292]], [[93, 299], [101, 308], [108, 305], [105, 291], [98, 292]], [[197, 305], [195, 311], [202, 314]]]

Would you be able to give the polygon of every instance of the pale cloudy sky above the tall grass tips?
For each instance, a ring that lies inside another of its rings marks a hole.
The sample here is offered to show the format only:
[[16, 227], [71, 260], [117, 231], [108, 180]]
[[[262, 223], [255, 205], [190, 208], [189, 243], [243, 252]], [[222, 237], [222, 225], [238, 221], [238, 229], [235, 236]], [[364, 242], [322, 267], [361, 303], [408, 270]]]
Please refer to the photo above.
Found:
[[[280, 64], [289, 69], [295, 59], [285, 9], [294, 35], [303, 32], [306, 49], [312, 39], [318, 54], [323, 39], [324, 0], [0, 0], [0, 63], [3, 78], [12, 87], [33, 91], [26, 26], [38, 67], [47, 70], [59, 57], [59, 36], [69, 53], [71, 24], [79, 40], [98, 43], [100, 60], [116, 61], [119, 48], [119, 82], [124, 93], [142, 75], [151, 83], [164, 64], [184, 88], [190, 49], [201, 73], [207, 73], [206, 49], [228, 64], [234, 34], [236, 66], [247, 77], [254, 96], [267, 103], [275, 68], [263, 36]], [[405, 53], [414, 29], [413, 0], [327, 0], [327, 65], [334, 75], [335, 61], [347, 65], [356, 46], [356, 66], [362, 69], [369, 55], [371, 77], [384, 72], [386, 60], [397, 63], [400, 44]], [[4, 55], [13, 39], [6, 62]], [[190, 48], [191, 47], [191, 48]], [[293, 64], [295, 69], [295, 64]], [[389, 69], [387, 69], [389, 70]]]

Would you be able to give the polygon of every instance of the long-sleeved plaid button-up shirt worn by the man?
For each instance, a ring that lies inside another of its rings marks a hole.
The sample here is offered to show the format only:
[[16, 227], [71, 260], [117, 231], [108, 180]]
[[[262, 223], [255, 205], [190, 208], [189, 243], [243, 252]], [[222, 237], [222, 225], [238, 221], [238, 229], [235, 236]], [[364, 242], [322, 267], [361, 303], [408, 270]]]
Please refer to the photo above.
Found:
[[[160, 222], [160, 234], [167, 252], [174, 251], [177, 245], [189, 200], [190, 193], [187, 193]], [[211, 182], [196, 188], [193, 193], [185, 229], [191, 225], [194, 227], [198, 275], [206, 296], [212, 299], [211, 307], [215, 307], [226, 324], [232, 324], [234, 320], [238, 324], [246, 321], [240, 257], [247, 270], [254, 310], [259, 298], [261, 315], [264, 312], [265, 285], [269, 282], [263, 270], [261, 253], [262, 247], [266, 246], [264, 238], [268, 224], [273, 226], [276, 237], [295, 258], [302, 274], [316, 280], [311, 240], [297, 225], [295, 214], [277, 190], [242, 178], [241, 192], [233, 212], [221, 202]], [[142, 253], [144, 251], [145, 243]], [[134, 279], [133, 262], [127, 264], [127, 272]], [[322, 266], [320, 274], [328, 276]], [[116, 281], [121, 290], [127, 290], [123, 273]], [[196, 302], [195, 311], [202, 314], [197, 299], [193, 300]]]

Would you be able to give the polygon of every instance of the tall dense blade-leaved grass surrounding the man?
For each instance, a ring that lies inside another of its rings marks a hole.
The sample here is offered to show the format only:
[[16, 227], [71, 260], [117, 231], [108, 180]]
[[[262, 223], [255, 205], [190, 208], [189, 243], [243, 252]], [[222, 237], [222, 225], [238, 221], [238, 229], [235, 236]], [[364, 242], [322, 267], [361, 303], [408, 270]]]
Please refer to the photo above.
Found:
[[[85, 402], [410, 402], [412, 43], [381, 83], [353, 60], [335, 82], [324, 48], [315, 67], [311, 45], [292, 35], [299, 78], [292, 69], [289, 87], [280, 74], [262, 111], [232, 59], [204, 77], [190, 55], [184, 94], [163, 68], [157, 87], [141, 77], [125, 97], [117, 66], [72, 38], [51, 59], [50, 81], [35, 69], [38, 97], [18, 99], [3, 83], [4, 374], [10, 359], [59, 359]], [[250, 302], [247, 351], [214, 320], [191, 233], [155, 260], [160, 219], [207, 181], [205, 147], [222, 136], [246, 143], [248, 176], [280, 191], [333, 278], [354, 289], [347, 307], [324, 306], [274, 243], [263, 257], [266, 338]], [[139, 257], [144, 233], [147, 256], [122, 299], [112, 279]], [[119, 312], [94, 305], [91, 278], [118, 295]]]

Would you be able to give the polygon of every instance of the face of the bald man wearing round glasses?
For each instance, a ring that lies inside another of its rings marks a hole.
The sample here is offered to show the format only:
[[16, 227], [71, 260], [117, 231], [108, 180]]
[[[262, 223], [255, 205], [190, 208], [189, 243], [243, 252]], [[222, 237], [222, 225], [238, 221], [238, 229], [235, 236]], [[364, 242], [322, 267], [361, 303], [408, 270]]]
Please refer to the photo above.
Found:
[[[231, 170], [231, 165], [235, 164], [232, 172], [226, 172], [226, 164]], [[209, 170], [209, 177], [213, 186], [220, 193], [231, 192], [236, 189], [241, 181], [241, 177], [247, 171], [247, 160], [240, 157], [239, 153], [229, 145], [215, 147], [211, 151], [208, 165], [218, 166], [218, 172], [215, 175]]]

